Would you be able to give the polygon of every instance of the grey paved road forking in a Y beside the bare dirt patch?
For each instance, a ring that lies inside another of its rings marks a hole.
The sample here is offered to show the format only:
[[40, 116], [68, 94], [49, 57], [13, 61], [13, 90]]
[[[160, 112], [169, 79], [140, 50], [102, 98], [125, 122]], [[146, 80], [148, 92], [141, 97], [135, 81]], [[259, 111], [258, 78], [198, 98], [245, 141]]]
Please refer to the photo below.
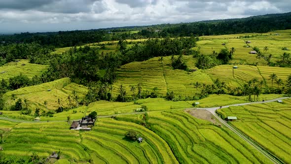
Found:
[[[263, 103], [268, 103], [268, 102], [274, 102], [278, 100], [284, 100], [287, 98], [291, 97], [281, 97], [281, 98], [276, 98], [272, 100], [266, 100], [266, 101], [258, 101], [258, 102], [249, 102], [249, 103], [241, 103], [241, 104], [233, 104], [233, 105], [226, 105], [222, 106], [221, 108], [228, 108], [230, 106], [242, 106], [242, 105], [250, 105], [250, 104], [263, 104]], [[270, 161], [272, 161], [274, 164], [282, 164], [282, 162], [276, 160], [274, 158], [274, 155], [268, 154], [265, 150], [263, 150], [257, 143], [254, 143], [251, 139], [249, 139], [245, 134], [243, 134], [241, 131], [238, 129], [235, 129], [232, 125], [226, 123], [224, 120], [222, 120], [217, 114], [216, 110], [220, 109], [220, 107], [213, 107], [213, 108], [187, 108], [187, 109], [200, 109], [200, 110], [207, 110], [211, 112], [223, 125], [228, 127], [231, 131], [233, 131], [235, 134], [237, 134], [239, 137], [241, 137], [243, 140], [248, 142], [250, 145], [252, 145], [255, 149], [257, 149], [259, 152], [261, 152], [266, 158], [268, 158]], [[277, 158], [277, 157], [276, 157]], [[278, 158], [277, 158], [278, 159]]]

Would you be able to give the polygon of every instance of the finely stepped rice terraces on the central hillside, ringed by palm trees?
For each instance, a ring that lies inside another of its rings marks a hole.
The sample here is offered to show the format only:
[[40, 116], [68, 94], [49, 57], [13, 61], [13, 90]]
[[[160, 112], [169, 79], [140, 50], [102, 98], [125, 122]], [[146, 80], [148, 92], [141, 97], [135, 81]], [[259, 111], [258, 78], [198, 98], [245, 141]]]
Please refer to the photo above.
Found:
[[[213, 83], [211, 78], [201, 70], [193, 73], [173, 70], [170, 65], [170, 58], [170, 56], [163, 57], [162, 63], [158, 61], [158, 57], [154, 57], [144, 62], [132, 62], [121, 66], [117, 72], [118, 77], [114, 83], [114, 88], [118, 88], [120, 84], [123, 84], [127, 88], [127, 93], [131, 94], [129, 85], [137, 85], [142, 82], [144, 90], [150, 92], [153, 87], [158, 87], [158, 93], [161, 95], [165, 95], [167, 90], [173, 90], [175, 94], [189, 96], [196, 93], [192, 83]], [[195, 59], [192, 56], [184, 56], [184, 60], [189, 65], [189, 68], [196, 68], [194, 66]], [[113, 93], [117, 94], [117, 89]]]

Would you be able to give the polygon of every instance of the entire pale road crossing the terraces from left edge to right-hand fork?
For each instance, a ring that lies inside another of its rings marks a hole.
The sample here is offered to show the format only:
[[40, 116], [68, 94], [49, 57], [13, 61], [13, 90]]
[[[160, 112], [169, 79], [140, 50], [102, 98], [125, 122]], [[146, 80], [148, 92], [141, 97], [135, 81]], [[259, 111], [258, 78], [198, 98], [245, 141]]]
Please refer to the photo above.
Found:
[[[234, 128], [232, 125], [228, 124], [224, 120], [222, 120], [217, 114], [216, 110], [220, 108], [228, 108], [231, 106], [243, 106], [243, 105], [251, 105], [251, 104], [263, 104], [263, 103], [268, 103], [268, 102], [274, 102], [278, 100], [284, 100], [288, 99], [291, 97], [281, 97], [281, 98], [276, 98], [272, 100], [266, 100], [266, 101], [258, 101], [258, 102], [249, 102], [249, 103], [241, 103], [241, 104], [233, 104], [233, 105], [226, 105], [226, 106], [221, 106], [221, 107], [212, 107], [212, 108], [186, 108], [186, 110], [195, 110], [195, 109], [200, 109], [200, 110], [207, 110], [210, 113], [212, 113], [215, 118], [217, 118], [218, 121], [220, 121], [224, 126], [228, 127], [231, 131], [233, 131], [235, 134], [237, 134], [239, 137], [241, 137], [243, 140], [248, 142], [250, 145], [252, 145], [255, 149], [257, 149], [260, 153], [262, 153], [266, 158], [268, 158], [270, 161], [272, 161], [274, 164], [283, 164], [279, 158], [274, 156], [273, 154], [270, 154], [266, 152], [264, 149], [262, 149], [261, 146], [259, 146], [257, 143], [255, 143], [253, 140], [251, 140], [248, 136], [246, 136], [244, 133], [239, 131], [238, 129]], [[137, 114], [145, 114], [146, 112], [133, 112], [133, 113], [122, 113], [122, 114], [114, 114], [114, 115], [105, 115], [105, 116], [97, 116], [97, 118], [109, 118], [109, 117], [114, 117], [114, 116], [119, 116], [119, 115], [137, 115]], [[39, 122], [32, 122], [32, 121], [23, 121], [23, 120], [17, 120], [17, 119], [9, 119], [6, 117], [0, 117], [0, 120], [6, 120], [10, 122], [16, 122], [16, 123], [45, 123], [48, 121], [39, 121]], [[78, 120], [74, 120], [78, 121]], [[51, 122], [67, 122], [67, 121], [49, 121]]]

